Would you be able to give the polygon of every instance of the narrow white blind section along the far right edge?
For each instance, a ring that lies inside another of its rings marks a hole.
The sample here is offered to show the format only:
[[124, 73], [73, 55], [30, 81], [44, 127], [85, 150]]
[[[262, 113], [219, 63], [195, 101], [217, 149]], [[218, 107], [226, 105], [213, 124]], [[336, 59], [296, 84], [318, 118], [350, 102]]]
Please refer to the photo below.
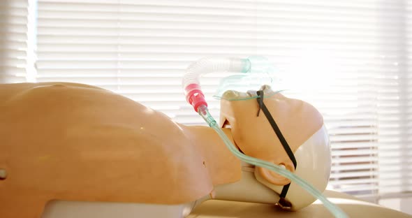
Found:
[[[392, 3], [392, 1], [388, 1]], [[379, 59], [382, 85], [378, 95], [379, 185], [383, 198], [394, 193], [412, 194], [412, 2], [399, 1], [381, 20], [392, 25], [381, 28], [391, 40]], [[386, 69], [386, 70], [382, 70]], [[396, 196], [396, 195], [395, 195]]]

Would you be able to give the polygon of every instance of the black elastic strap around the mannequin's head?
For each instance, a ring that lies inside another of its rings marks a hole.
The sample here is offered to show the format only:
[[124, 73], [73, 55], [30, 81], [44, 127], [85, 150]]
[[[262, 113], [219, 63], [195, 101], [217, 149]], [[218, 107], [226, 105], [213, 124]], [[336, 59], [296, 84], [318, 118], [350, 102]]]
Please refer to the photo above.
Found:
[[[293, 162], [293, 166], [295, 166], [295, 169], [296, 169], [297, 163], [296, 163], [295, 155], [293, 155], [293, 152], [292, 150], [290, 150], [290, 147], [288, 143], [286, 142], [284, 135], [282, 135], [279, 129], [279, 126], [277, 126], [276, 122], [274, 122], [272, 115], [270, 114], [269, 110], [267, 110], [265, 103], [263, 103], [263, 99], [264, 99], [263, 90], [258, 91], [257, 94], [258, 94], [258, 99], [256, 100], [258, 100], [258, 105], [259, 105], [258, 116], [259, 116], [260, 110], [262, 110], [267, 120], [269, 121], [270, 125], [272, 126], [274, 133], [276, 133], [277, 138], [279, 138], [282, 146], [284, 147], [284, 150], [288, 154], [288, 157]], [[280, 194], [280, 200], [279, 200], [279, 204], [281, 204], [281, 206], [282, 205], [285, 206], [286, 204], [288, 204], [284, 198], [286, 197], [286, 194], [288, 193], [289, 186], [290, 186], [290, 183], [284, 185], [284, 188], [282, 189], [282, 192]]]

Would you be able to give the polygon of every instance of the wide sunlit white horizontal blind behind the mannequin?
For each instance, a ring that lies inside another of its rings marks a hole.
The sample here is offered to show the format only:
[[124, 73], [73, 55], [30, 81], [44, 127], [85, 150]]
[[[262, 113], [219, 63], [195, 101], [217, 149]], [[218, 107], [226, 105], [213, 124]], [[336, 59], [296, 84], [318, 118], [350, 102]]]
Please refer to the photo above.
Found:
[[[382, 166], [389, 159], [378, 158], [385, 157], [385, 140], [395, 134], [399, 144], [387, 149], [411, 152], [404, 135], [411, 127], [411, 82], [405, 80], [411, 78], [411, 29], [398, 27], [400, 20], [404, 27], [411, 23], [404, 2], [39, 0], [36, 80], [98, 85], [176, 122], [203, 124], [182, 94], [185, 68], [205, 56], [269, 57], [290, 89], [286, 94], [313, 103], [325, 117], [330, 188], [376, 197], [392, 175]], [[202, 80], [214, 117], [219, 101], [212, 95], [221, 76]], [[411, 171], [403, 169], [395, 181], [407, 185], [395, 193], [411, 191]]]

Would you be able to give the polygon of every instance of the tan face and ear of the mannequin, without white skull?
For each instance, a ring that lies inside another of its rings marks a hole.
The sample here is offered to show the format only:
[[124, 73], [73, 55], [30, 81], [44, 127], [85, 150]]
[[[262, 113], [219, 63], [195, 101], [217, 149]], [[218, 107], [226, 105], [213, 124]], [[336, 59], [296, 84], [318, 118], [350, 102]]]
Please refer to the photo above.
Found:
[[[290, 149], [295, 151], [323, 125], [319, 112], [309, 103], [297, 99], [288, 99], [283, 94], [274, 93], [270, 87], [263, 86], [265, 106], [270, 111]], [[295, 171], [293, 162], [286, 154], [279, 138], [260, 111], [258, 101], [247, 99], [227, 101], [224, 99], [245, 99], [256, 95], [256, 92], [226, 92], [221, 101], [221, 126], [230, 125], [233, 139], [244, 154], [277, 165], [283, 165], [291, 172]], [[290, 182], [286, 177], [265, 168], [256, 168], [258, 174], [275, 185]]]

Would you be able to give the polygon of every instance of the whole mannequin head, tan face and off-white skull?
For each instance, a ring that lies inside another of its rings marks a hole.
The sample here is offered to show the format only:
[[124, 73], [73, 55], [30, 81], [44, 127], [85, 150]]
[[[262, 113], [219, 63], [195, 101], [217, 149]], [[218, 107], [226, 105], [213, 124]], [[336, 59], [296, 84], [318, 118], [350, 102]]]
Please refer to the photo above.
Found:
[[[267, 117], [263, 112], [258, 114], [259, 104], [253, 98], [256, 91], [225, 92], [221, 99], [221, 126], [230, 126], [235, 145], [244, 154], [284, 166], [318, 190], [325, 190], [330, 175], [330, 147], [323, 117], [309, 103], [288, 99], [268, 86], [260, 90], [267, 96], [263, 102], [295, 155], [296, 169]], [[256, 167], [255, 176], [278, 194], [290, 183], [286, 177], [266, 168]], [[316, 200], [294, 183], [290, 184], [285, 199], [290, 210], [299, 210]]]

